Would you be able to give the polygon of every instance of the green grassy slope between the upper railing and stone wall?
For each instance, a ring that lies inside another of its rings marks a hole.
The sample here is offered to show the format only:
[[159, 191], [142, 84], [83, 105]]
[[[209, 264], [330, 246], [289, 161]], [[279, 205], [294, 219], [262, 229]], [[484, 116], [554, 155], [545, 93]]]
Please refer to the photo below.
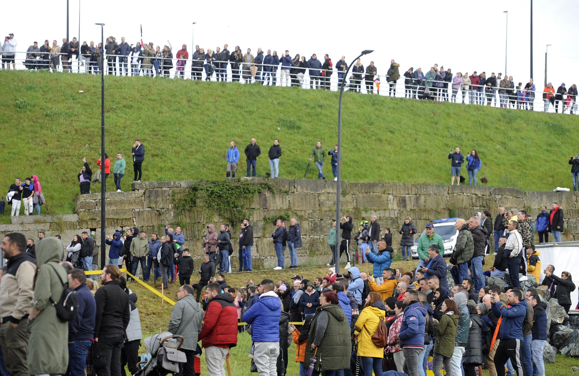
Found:
[[[5, 189], [16, 176], [36, 174], [45, 211], [71, 212], [82, 157], [95, 169], [100, 156], [100, 82], [99, 76], [0, 72]], [[127, 159], [123, 190], [133, 180], [136, 138], [146, 149], [144, 180], [223, 179], [229, 141], [243, 153], [252, 137], [262, 149], [259, 176], [269, 171], [267, 150], [278, 138], [280, 177], [302, 178], [316, 141], [327, 149], [337, 139], [335, 92], [107, 76], [105, 95], [107, 153]], [[491, 186], [569, 186], [576, 124], [568, 115], [345, 93], [343, 179], [448, 184], [447, 156], [459, 145], [463, 153], [478, 150], [479, 178]], [[239, 167], [244, 175], [244, 158]], [[331, 176], [328, 164], [325, 172]], [[315, 167], [308, 177], [317, 178]]]

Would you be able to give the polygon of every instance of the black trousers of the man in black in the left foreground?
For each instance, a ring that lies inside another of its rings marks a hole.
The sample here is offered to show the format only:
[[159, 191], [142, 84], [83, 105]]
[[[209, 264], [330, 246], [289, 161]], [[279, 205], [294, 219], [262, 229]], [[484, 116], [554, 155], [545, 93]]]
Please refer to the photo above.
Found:
[[123, 334], [100, 334], [93, 344], [93, 367], [97, 376], [120, 376], [120, 349]]

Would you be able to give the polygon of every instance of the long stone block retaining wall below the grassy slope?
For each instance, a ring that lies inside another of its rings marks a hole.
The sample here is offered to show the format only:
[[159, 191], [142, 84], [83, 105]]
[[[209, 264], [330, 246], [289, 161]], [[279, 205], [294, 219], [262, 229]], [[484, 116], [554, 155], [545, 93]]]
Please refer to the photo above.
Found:
[[[251, 179], [259, 181], [261, 179]], [[325, 264], [329, 260], [327, 234], [335, 219], [336, 183], [333, 180], [272, 179], [268, 180], [278, 193], [263, 193], [247, 205], [248, 218], [254, 228], [254, 268], [270, 268], [277, 264], [271, 234], [275, 227], [265, 223], [266, 218], [284, 216], [296, 218], [302, 230], [303, 248], [298, 249], [299, 264], [303, 266]], [[133, 183], [133, 191], [108, 192], [107, 234], [116, 229], [137, 226], [144, 228], [147, 236], [163, 233], [164, 224], [184, 226], [185, 246], [200, 257], [204, 229], [208, 223], [216, 228], [225, 222], [217, 213], [205, 208], [193, 209], [177, 218], [175, 198], [182, 197], [193, 182], [142, 182]], [[282, 193], [280, 193], [282, 192]], [[565, 214], [565, 239], [579, 239], [579, 194], [573, 192], [522, 191], [514, 188], [485, 186], [411, 185], [406, 183], [343, 183], [340, 200], [342, 212], [354, 217], [354, 224], [362, 216], [378, 216], [381, 228], [390, 227], [393, 246], [400, 246], [400, 225], [410, 216], [419, 231], [427, 222], [437, 218], [470, 218], [477, 211], [489, 210], [497, 215], [498, 207], [526, 209], [536, 217], [541, 205], [550, 207], [556, 201]], [[289, 226], [289, 223], [287, 223]], [[239, 223], [234, 223], [232, 235], [239, 234]], [[356, 228], [356, 226], [355, 226]], [[75, 197], [75, 214], [60, 216], [14, 217], [12, 224], [0, 225], [0, 234], [23, 232], [37, 238], [38, 231], [48, 236], [61, 234], [68, 244], [74, 234], [96, 230], [100, 235], [100, 194]], [[537, 241], [537, 237], [535, 238]], [[287, 255], [288, 252], [286, 252]], [[232, 255], [237, 268], [237, 252]], [[286, 264], [289, 264], [287, 256]]]

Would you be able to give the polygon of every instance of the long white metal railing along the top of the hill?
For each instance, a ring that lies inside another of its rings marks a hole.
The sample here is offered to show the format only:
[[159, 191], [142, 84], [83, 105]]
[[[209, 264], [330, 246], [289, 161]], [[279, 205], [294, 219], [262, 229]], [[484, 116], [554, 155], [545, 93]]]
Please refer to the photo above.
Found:
[[[342, 79], [346, 79], [346, 90], [358, 91], [366, 94], [391, 95], [394, 97], [407, 97], [417, 99], [431, 99], [434, 101], [450, 101], [464, 104], [486, 105], [511, 109], [528, 109], [544, 112], [555, 112], [560, 110], [564, 113], [577, 113], [577, 102], [575, 95], [564, 94], [559, 96], [555, 93], [540, 90], [526, 90], [524, 84], [522, 87], [500, 87], [488, 85], [473, 85], [455, 83], [452, 79], [433, 80], [407, 78], [402, 72], [400, 78], [389, 83], [387, 75], [367, 75], [364, 72], [352, 72], [350, 70], [348, 77], [343, 77], [343, 72], [335, 69], [336, 62], [333, 62], [331, 75], [325, 76], [322, 68], [290, 66], [290, 69], [282, 65], [273, 64], [255, 64], [255, 62], [243, 61], [208, 61], [207, 57], [203, 59], [183, 59], [183, 58], [164, 58], [164, 57], [146, 57], [134, 54], [129, 55], [112, 55], [108, 56], [105, 49], [102, 50], [101, 61], [94, 56], [85, 56], [73, 53], [47, 52], [49, 59], [41, 59], [41, 52], [17, 51], [15, 54], [25, 54], [24, 59], [16, 59], [18, 67], [27, 69], [50, 69], [50, 71], [68, 71], [76, 73], [100, 73], [104, 69], [105, 74], [110, 75], [130, 75], [130, 76], [161, 76], [166, 78], [181, 79], [205, 79], [212, 81], [240, 82], [240, 83], [261, 83], [267, 86], [299, 86], [302, 89], [325, 89], [336, 91]], [[192, 56], [194, 53], [191, 53]], [[214, 53], [215, 55], [216, 53]], [[58, 58], [58, 56], [60, 58]], [[71, 57], [72, 55], [72, 57]], [[63, 60], [67, 56], [67, 60]], [[80, 56], [80, 57], [79, 57]], [[254, 56], [255, 57], [255, 56]], [[142, 60], [151, 59], [151, 65], [142, 64]], [[281, 59], [280, 59], [281, 60]], [[294, 63], [294, 58], [291, 58]], [[173, 64], [173, 61], [176, 63]], [[184, 62], [182, 67], [177, 67], [179, 61]], [[169, 63], [169, 64], [167, 64]], [[320, 64], [324, 61], [320, 60]], [[6, 63], [8, 64], [8, 63]], [[12, 64], [12, 63], [10, 63]], [[84, 64], [84, 68], [81, 66]], [[281, 64], [281, 63], [280, 63]], [[75, 67], [76, 65], [76, 67]], [[65, 69], [65, 67], [67, 69]], [[255, 67], [255, 68], [251, 68]], [[76, 68], [76, 69], [75, 69]], [[182, 68], [182, 69], [180, 69]], [[365, 67], [366, 68], [366, 67]], [[5, 62], [2, 61], [2, 69], [5, 69]], [[288, 72], [289, 71], [289, 72]], [[318, 71], [320, 75], [312, 75], [311, 72]], [[426, 73], [422, 72], [423, 75]], [[496, 79], [500, 85], [500, 79]], [[382, 87], [381, 87], [382, 86]], [[455, 87], [458, 86], [457, 89]], [[466, 88], [468, 86], [468, 89]], [[428, 87], [428, 90], [426, 89]], [[382, 89], [382, 90], [380, 90]], [[505, 93], [501, 93], [501, 91]], [[556, 89], [555, 89], [556, 90]], [[566, 90], [569, 90], [568, 88]], [[552, 95], [552, 99], [544, 99], [543, 94]], [[555, 98], [557, 98], [555, 100]]]

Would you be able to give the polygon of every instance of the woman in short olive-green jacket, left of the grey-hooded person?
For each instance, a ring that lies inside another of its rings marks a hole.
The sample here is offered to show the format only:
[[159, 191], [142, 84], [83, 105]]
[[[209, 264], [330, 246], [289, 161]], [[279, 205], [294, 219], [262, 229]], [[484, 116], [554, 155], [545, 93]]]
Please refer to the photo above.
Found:
[[440, 320], [433, 319], [434, 328], [437, 331], [433, 350], [434, 376], [441, 376], [440, 367], [442, 364], [444, 364], [446, 373], [449, 373], [450, 358], [455, 352], [456, 332], [460, 318], [460, 312], [454, 300], [444, 300], [441, 307], [442, 317]]

